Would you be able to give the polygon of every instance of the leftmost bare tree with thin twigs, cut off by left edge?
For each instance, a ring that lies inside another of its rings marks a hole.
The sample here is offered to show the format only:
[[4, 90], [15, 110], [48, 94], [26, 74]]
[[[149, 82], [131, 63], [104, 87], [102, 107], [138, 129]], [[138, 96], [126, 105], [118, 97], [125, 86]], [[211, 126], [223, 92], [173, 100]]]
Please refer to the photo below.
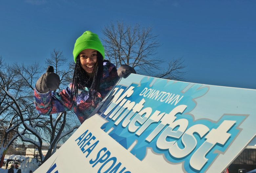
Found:
[[0, 129], [3, 137], [0, 144], [0, 166], [2, 166], [3, 154], [18, 137], [16, 130], [20, 125], [20, 122], [17, 121], [18, 116], [13, 110], [14, 102], [9, 95], [15, 97], [21, 105], [24, 103], [26, 95], [22, 94], [24, 91], [22, 81], [13, 73], [11, 66], [3, 63], [2, 57], [0, 57], [0, 67]]

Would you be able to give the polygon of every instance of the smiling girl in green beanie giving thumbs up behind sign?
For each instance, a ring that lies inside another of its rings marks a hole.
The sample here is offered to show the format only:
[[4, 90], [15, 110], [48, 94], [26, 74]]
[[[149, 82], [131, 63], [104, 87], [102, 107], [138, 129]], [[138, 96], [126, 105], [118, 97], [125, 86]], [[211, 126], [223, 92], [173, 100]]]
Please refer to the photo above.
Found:
[[119, 77], [136, 72], [128, 65], [117, 70], [114, 64], [104, 60], [104, 48], [98, 35], [91, 31], [85, 31], [76, 40], [73, 55], [75, 71], [72, 83], [60, 93], [51, 92], [58, 89], [60, 78], [49, 66], [36, 82], [35, 106], [41, 114], [73, 110], [83, 123]]

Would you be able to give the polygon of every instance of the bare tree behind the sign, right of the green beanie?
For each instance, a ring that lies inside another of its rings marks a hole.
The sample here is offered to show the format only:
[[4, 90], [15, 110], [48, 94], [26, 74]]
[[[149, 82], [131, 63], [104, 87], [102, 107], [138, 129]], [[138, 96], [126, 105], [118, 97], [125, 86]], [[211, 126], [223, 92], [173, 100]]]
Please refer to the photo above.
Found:
[[[181, 58], [165, 62], [157, 58], [157, 49], [160, 43], [152, 34], [152, 28], [141, 28], [116, 24], [111, 22], [102, 30], [104, 35], [103, 44], [109, 60], [117, 67], [127, 64], [133, 67], [138, 74], [152, 74], [154, 77], [182, 80], [185, 66]], [[159, 70], [167, 63], [165, 69]], [[154, 74], [154, 75], [153, 75]]]

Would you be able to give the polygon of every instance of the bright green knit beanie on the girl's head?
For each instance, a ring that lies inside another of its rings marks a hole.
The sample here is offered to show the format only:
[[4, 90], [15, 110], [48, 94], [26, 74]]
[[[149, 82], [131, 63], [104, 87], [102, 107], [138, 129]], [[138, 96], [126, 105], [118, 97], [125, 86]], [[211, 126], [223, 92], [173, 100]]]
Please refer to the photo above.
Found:
[[76, 57], [84, 49], [95, 49], [102, 55], [103, 60], [105, 59], [104, 47], [102, 46], [98, 35], [95, 33], [92, 33], [91, 31], [85, 31], [83, 35], [78, 37], [78, 39], [76, 40], [75, 47], [73, 50], [75, 62], [76, 62]]

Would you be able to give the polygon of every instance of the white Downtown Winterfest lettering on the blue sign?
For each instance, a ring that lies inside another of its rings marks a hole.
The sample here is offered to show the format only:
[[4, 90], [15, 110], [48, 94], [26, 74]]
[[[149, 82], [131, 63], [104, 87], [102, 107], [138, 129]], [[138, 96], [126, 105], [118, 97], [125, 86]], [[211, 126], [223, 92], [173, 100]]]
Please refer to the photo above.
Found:
[[[151, 133], [145, 138], [148, 143], [152, 142], [158, 136], [156, 146], [160, 150], [168, 150], [168, 153], [175, 158], [183, 159], [192, 153], [189, 164], [196, 170], [201, 170], [207, 163], [206, 154], [216, 146], [216, 144], [224, 145], [230, 137], [228, 130], [236, 123], [233, 120], [224, 120], [216, 129], [209, 129], [204, 124], [195, 124], [188, 127], [188, 120], [185, 118], [177, 119], [177, 114], [182, 114], [187, 108], [187, 105], [178, 105], [170, 112], [153, 111], [151, 107], [144, 107], [145, 97], [151, 99], [159, 99], [168, 103], [178, 104], [181, 98], [176, 95], [175, 99], [169, 94], [161, 92], [161, 95], [156, 94], [156, 91], [144, 88], [140, 93], [143, 95], [139, 103], [130, 101], [129, 98], [133, 94], [133, 86], [124, 89], [115, 88], [113, 91], [113, 99], [107, 109], [103, 112], [108, 115], [108, 118], [113, 120], [115, 125], [123, 128], [128, 127], [129, 132], [135, 133], [138, 137], [148, 129], [152, 124], [158, 123], [157, 128], [154, 128]], [[159, 91], [158, 91], [159, 93]], [[151, 94], [151, 96], [149, 96]], [[164, 98], [166, 99], [164, 100]], [[168, 101], [167, 101], [168, 99]], [[178, 130], [177, 130], [178, 128]], [[197, 139], [193, 136], [197, 133], [203, 144], [196, 150]], [[218, 138], [216, 138], [218, 136]], [[168, 141], [167, 138], [179, 140], [181, 138], [183, 148], [179, 147], [176, 141]]]

